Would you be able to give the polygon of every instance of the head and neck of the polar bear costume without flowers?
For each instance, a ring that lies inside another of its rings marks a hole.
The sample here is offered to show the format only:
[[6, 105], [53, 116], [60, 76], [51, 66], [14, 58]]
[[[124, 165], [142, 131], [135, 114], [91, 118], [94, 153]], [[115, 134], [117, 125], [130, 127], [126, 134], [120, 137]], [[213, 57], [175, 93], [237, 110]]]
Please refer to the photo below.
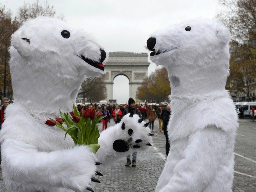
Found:
[[229, 31], [209, 19], [194, 19], [159, 30], [148, 39], [152, 62], [168, 70], [172, 94], [225, 90], [229, 75]]

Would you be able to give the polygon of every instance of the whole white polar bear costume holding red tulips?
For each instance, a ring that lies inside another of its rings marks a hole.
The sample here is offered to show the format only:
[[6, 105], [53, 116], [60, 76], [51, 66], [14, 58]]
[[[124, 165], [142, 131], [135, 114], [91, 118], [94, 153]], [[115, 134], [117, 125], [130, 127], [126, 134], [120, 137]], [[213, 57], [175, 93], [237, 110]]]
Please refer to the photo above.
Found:
[[5, 110], [0, 142], [11, 192], [93, 191], [96, 162], [104, 167], [151, 145], [147, 124], [132, 113], [100, 134], [96, 155], [45, 124], [72, 110], [85, 77], [104, 74], [106, 52], [89, 34], [54, 18], [28, 20], [12, 34], [10, 54], [14, 104]]

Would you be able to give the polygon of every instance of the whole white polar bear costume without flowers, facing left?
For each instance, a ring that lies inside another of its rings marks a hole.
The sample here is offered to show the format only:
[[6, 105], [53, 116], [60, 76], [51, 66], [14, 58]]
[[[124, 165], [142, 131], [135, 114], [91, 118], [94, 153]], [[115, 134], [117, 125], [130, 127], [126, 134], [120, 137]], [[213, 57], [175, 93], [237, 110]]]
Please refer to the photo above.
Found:
[[171, 83], [170, 153], [156, 192], [231, 192], [238, 127], [227, 90], [230, 34], [208, 19], [181, 22], [152, 34], [152, 62]]

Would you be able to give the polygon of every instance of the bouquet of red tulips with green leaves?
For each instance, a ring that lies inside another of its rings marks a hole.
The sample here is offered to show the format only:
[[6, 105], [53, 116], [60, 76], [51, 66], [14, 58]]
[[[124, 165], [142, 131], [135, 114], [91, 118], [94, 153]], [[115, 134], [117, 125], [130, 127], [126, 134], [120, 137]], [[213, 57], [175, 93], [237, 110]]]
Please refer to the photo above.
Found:
[[[100, 111], [95, 110], [95, 106], [92, 105], [86, 110], [80, 112], [73, 104], [73, 111], [69, 114], [60, 111], [60, 117], [46, 120], [45, 124], [49, 126], [58, 126], [62, 130], [66, 131], [66, 135], [69, 134], [75, 144], [87, 145], [93, 153], [96, 153], [100, 148], [98, 145], [98, 138], [100, 132], [98, 130], [98, 122], [105, 116]], [[62, 124], [66, 124], [67, 128], [64, 128]]]

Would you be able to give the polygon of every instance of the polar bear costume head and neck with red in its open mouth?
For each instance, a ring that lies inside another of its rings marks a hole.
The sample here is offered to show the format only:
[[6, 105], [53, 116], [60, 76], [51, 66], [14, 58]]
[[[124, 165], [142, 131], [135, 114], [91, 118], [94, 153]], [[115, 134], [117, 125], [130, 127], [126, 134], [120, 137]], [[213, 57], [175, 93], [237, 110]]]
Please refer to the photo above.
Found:
[[84, 78], [104, 74], [106, 58], [89, 34], [46, 17], [12, 34], [10, 55], [14, 102], [34, 114], [69, 111]]

